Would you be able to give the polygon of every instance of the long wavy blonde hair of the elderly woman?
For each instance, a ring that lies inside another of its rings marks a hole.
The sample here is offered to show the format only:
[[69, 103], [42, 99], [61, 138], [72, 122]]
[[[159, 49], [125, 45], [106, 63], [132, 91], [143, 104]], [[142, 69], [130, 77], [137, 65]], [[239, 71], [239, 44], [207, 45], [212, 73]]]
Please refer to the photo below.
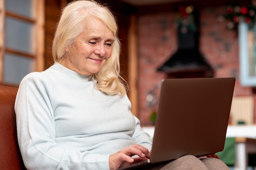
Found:
[[61, 13], [53, 44], [52, 55], [55, 62], [65, 58], [65, 47], [74, 46], [74, 41], [86, 26], [89, 17], [95, 17], [103, 21], [113, 32], [115, 41], [112, 44], [111, 57], [104, 63], [101, 70], [90, 76], [91, 81], [97, 81], [96, 89], [108, 95], [119, 94], [124, 96], [128, 85], [120, 75], [120, 41], [118, 38], [118, 26], [114, 15], [108, 7], [94, 0], [76, 0], [70, 2]]

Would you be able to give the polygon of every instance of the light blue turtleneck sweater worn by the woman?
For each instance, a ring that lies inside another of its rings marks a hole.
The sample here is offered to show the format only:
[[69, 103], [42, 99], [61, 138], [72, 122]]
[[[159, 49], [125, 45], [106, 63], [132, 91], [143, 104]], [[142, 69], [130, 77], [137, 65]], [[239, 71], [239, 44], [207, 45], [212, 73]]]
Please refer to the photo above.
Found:
[[27, 169], [108, 170], [108, 158], [152, 139], [141, 130], [125, 96], [94, 89], [88, 76], [59, 63], [25, 76], [15, 111], [20, 151]]

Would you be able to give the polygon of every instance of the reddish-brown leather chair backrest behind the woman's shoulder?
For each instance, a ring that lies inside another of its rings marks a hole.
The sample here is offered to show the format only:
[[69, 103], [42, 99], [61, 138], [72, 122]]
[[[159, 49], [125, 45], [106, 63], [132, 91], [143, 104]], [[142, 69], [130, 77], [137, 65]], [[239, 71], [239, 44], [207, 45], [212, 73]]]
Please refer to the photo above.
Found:
[[24, 170], [17, 140], [14, 102], [18, 88], [0, 85], [0, 170]]

